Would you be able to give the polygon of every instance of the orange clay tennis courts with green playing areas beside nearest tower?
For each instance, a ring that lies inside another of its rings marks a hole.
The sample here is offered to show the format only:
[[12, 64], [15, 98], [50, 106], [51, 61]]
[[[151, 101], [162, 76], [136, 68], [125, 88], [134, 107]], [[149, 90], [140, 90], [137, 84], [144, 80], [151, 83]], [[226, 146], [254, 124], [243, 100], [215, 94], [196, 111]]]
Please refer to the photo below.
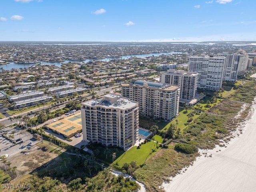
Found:
[[70, 138], [82, 130], [81, 113], [75, 114], [72, 117], [60, 119], [47, 125], [47, 127]]

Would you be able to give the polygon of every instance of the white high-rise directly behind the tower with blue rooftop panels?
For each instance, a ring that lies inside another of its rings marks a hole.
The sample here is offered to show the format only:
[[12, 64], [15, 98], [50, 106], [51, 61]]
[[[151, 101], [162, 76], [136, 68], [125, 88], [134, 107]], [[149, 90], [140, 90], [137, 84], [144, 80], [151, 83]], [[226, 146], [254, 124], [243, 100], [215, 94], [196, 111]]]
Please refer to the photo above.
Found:
[[170, 69], [160, 73], [160, 82], [180, 87], [180, 98], [192, 100], [195, 98], [198, 73]]

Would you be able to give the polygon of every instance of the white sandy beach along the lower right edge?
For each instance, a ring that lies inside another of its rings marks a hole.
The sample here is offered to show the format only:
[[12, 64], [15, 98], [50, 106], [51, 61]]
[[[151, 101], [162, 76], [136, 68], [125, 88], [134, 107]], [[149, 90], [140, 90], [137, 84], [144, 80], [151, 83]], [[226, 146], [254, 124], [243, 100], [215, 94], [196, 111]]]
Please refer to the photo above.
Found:
[[[256, 104], [243, 134], [226, 148], [204, 150], [192, 166], [162, 186], [166, 192], [255, 192]], [[210, 157], [210, 155], [212, 157]]]

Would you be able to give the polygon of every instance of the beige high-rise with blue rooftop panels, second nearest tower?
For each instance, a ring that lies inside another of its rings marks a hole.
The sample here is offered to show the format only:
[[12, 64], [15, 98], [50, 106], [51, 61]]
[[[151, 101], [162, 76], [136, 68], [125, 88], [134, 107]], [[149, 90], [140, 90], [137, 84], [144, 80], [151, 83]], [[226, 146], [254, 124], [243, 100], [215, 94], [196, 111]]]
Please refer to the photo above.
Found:
[[178, 115], [178, 86], [133, 79], [122, 84], [122, 96], [138, 102], [142, 116], [171, 121]]

